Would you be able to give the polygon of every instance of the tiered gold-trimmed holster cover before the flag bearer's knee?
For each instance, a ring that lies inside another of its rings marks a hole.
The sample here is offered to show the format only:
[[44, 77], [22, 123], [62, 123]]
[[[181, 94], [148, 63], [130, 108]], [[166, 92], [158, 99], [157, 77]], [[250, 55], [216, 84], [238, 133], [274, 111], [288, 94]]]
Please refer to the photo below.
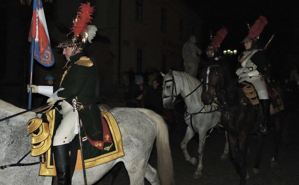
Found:
[[[38, 130], [37, 130], [38, 129]], [[34, 131], [37, 130], [38, 133]], [[31, 133], [31, 156], [39, 156], [45, 153], [52, 143], [48, 123], [42, 118], [32, 118], [28, 121], [28, 134]]]

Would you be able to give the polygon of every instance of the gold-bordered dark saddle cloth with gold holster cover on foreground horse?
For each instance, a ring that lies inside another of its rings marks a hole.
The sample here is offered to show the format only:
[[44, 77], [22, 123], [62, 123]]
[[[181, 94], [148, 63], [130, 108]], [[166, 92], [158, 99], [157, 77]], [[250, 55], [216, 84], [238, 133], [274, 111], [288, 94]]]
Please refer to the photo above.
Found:
[[[98, 149], [91, 144], [87, 136], [82, 130], [83, 138], [83, 157], [85, 168], [91, 168], [103, 163], [115, 160], [124, 156], [122, 139], [119, 127], [113, 115], [106, 111], [101, 112], [102, 124], [108, 127], [111, 136], [111, 143], [105, 142], [103, 150]], [[54, 138], [59, 124], [62, 120], [62, 115], [56, 110], [43, 114], [41, 118], [32, 118], [28, 121], [28, 134], [31, 134], [31, 156], [39, 156], [45, 154], [46, 162], [40, 165], [39, 175], [41, 176], [55, 176], [56, 170], [53, 160], [53, 152], [51, 150], [51, 143]], [[105, 125], [104, 125], [105, 124]], [[70, 158], [72, 170], [82, 170], [82, 160], [78, 134], [70, 143]]]

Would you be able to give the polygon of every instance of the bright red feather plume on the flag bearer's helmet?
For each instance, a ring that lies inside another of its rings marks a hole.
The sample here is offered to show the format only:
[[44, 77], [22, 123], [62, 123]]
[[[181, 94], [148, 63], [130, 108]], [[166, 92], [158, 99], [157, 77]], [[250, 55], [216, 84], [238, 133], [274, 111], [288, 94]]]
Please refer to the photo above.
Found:
[[82, 34], [88, 29], [88, 23], [91, 23], [93, 12], [94, 7], [90, 6], [90, 2], [81, 4], [79, 11], [77, 12], [77, 20], [74, 20], [74, 25], [71, 28], [75, 35]]

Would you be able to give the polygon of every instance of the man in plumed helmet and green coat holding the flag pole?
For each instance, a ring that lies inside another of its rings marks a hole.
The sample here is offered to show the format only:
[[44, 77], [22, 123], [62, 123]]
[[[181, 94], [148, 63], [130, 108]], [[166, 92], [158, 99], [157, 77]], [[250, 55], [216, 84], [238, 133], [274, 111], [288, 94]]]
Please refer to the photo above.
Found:
[[84, 8], [90, 10], [88, 12], [89, 20], [83, 23], [85, 25], [84, 29], [78, 28], [78, 25], [81, 24], [82, 26], [82, 20], [77, 16], [73, 21], [72, 32], [68, 34], [68, 36], [72, 35], [72, 38], [61, 42], [57, 46], [58, 48], [63, 48], [63, 54], [68, 60], [66, 64], [67, 70], [62, 76], [60, 89], [54, 92], [52, 86], [28, 85], [28, 90], [32, 87], [32, 92], [49, 96], [50, 98], [47, 102], [50, 104], [54, 104], [57, 100], [62, 100], [58, 104], [61, 105], [63, 118], [54, 134], [52, 150], [58, 184], [68, 185], [72, 184], [69, 155], [70, 142], [78, 134], [78, 112], [73, 111], [72, 106], [72, 100], [75, 97], [85, 107], [79, 115], [88, 140], [96, 141], [98, 145], [95, 147], [100, 150], [103, 150], [104, 147], [100, 110], [95, 102], [96, 72], [92, 61], [82, 52], [85, 42], [91, 42], [97, 31], [95, 26], [87, 25], [91, 21], [94, 8], [90, 7], [90, 3], [81, 4], [80, 8], [82, 9], [82, 13], [85, 13], [83, 12]]

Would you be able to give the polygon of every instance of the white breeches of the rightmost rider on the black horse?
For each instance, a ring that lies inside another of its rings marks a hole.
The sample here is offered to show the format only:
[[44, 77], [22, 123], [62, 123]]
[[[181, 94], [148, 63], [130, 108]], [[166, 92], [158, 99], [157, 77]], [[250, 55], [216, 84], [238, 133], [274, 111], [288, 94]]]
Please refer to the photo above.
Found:
[[239, 80], [239, 83], [243, 81], [247, 81], [253, 84], [260, 100], [269, 99], [266, 83], [264, 82], [264, 80], [261, 80], [260, 77], [252, 76], [251, 78], [241, 78]]

